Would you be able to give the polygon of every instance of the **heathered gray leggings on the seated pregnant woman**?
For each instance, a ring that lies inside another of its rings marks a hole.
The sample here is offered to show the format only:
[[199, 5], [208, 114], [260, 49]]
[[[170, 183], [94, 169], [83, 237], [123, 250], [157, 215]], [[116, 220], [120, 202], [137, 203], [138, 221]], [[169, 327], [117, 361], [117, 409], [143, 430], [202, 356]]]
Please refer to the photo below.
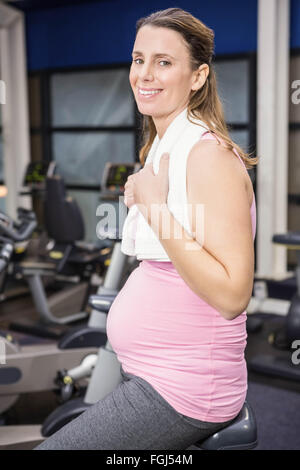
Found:
[[125, 373], [118, 387], [37, 450], [184, 450], [227, 426], [178, 413], [144, 379]]

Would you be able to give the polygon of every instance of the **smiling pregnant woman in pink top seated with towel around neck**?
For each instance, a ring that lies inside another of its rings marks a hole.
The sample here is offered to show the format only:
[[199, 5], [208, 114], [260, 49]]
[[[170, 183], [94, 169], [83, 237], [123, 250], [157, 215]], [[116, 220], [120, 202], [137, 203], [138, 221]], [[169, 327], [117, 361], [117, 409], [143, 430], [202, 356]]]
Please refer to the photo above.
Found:
[[122, 382], [39, 448], [186, 449], [243, 407], [256, 160], [229, 137], [213, 50], [213, 31], [180, 8], [137, 23], [144, 167], [125, 185], [122, 251], [141, 263], [107, 318]]

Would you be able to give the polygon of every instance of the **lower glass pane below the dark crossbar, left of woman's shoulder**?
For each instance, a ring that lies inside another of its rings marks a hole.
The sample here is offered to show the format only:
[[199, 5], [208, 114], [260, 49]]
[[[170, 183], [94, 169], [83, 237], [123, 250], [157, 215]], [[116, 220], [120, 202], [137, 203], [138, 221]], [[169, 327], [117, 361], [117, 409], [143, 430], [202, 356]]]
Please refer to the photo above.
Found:
[[134, 162], [133, 132], [54, 133], [58, 172], [69, 184], [100, 185], [106, 162]]

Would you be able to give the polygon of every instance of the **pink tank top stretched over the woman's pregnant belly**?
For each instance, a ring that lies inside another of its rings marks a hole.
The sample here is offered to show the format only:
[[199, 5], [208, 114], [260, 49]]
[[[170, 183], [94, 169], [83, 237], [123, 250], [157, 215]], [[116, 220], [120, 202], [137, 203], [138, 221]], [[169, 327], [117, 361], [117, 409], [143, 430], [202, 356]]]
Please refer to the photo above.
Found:
[[[254, 239], [254, 195], [250, 211]], [[246, 318], [243, 312], [225, 320], [171, 262], [144, 260], [110, 309], [107, 335], [124, 371], [146, 380], [179, 413], [224, 422], [247, 394]]]

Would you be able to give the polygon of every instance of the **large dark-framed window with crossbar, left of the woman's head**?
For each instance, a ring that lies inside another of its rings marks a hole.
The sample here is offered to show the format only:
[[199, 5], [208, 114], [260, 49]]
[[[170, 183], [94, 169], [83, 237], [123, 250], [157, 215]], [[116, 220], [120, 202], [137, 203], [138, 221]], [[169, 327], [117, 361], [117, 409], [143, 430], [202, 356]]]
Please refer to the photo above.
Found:
[[106, 162], [137, 159], [129, 68], [41, 72], [30, 77], [33, 160], [55, 160], [95, 242], [96, 208]]

